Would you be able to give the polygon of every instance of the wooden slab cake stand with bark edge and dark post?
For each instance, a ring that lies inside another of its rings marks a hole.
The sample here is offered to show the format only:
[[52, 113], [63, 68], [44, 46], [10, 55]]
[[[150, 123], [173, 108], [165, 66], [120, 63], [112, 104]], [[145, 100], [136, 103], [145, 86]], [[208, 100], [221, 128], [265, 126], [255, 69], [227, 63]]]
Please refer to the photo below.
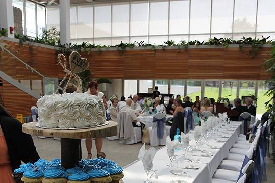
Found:
[[22, 130], [26, 134], [61, 138], [61, 166], [69, 169], [79, 166], [80, 139], [104, 138], [117, 135], [117, 122], [87, 129], [44, 129], [36, 126], [37, 122], [24, 123]]

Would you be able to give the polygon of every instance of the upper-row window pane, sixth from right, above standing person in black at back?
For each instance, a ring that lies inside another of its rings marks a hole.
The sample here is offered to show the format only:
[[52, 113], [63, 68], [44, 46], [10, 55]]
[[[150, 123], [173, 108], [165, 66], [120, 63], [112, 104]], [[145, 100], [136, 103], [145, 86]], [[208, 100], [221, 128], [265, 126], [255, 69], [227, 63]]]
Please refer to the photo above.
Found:
[[168, 34], [168, 1], [150, 1], [150, 35]]

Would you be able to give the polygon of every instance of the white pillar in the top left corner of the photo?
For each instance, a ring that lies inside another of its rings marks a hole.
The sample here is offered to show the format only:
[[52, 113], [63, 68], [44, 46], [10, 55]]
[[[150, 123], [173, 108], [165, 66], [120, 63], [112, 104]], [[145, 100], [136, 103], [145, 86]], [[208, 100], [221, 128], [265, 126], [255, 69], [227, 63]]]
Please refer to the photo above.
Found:
[[0, 29], [8, 29], [8, 37], [14, 38], [14, 34], [10, 34], [10, 27], [14, 28], [12, 0], [1, 0]]

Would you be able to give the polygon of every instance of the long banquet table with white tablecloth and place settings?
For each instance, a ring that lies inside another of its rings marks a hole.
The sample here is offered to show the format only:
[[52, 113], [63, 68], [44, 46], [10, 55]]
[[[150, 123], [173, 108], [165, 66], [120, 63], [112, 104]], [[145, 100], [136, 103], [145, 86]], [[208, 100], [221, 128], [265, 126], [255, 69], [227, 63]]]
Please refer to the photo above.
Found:
[[[212, 152], [213, 156], [211, 157], [202, 157], [200, 151], [193, 150], [193, 158], [199, 159], [201, 163], [192, 163], [188, 160], [184, 159], [183, 150], [175, 151], [175, 155], [177, 155], [178, 165], [175, 167], [168, 167], [167, 165], [170, 163], [170, 160], [167, 155], [167, 147], [164, 146], [159, 149], [153, 159], [153, 168], [158, 169], [158, 183], [169, 183], [171, 180], [184, 180], [188, 183], [190, 182], [212, 182], [211, 177], [217, 170], [221, 161], [229, 155], [229, 150], [233, 146], [234, 143], [238, 141], [238, 136], [241, 133], [241, 122], [232, 121], [231, 128], [228, 126], [222, 126], [218, 130], [216, 134], [226, 134], [229, 136], [228, 138], [221, 138], [221, 137], [213, 137], [209, 141], [209, 145], [215, 145], [219, 147], [219, 149], [213, 149], [208, 145], [204, 145], [204, 149], [207, 152]], [[229, 131], [229, 130], [232, 131]], [[230, 133], [230, 134], [229, 134]], [[226, 142], [217, 142], [215, 139], [224, 139]], [[195, 140], [192, 137], [190, 145], [195, 145]], [[184, 168], [186, 165], [198, 165], [200, 168], [198, 170], [193, 169], [181, 169]], [[181, 167], [181, 168], [177, 168]], [[174, 176], [170, 173], [170, 170], [183, 170], [187, 173], [187, 175], [191, 175], [192, 177], [185, 177], [185, 176]], [[146, 180], [146, 173], [143, 169], [143, 163], [140, 160], [137, 160], [126, 167], [124, 167], [124, 183], [140, 183]], [[154, 182], [153, 182], [154, 183]]]

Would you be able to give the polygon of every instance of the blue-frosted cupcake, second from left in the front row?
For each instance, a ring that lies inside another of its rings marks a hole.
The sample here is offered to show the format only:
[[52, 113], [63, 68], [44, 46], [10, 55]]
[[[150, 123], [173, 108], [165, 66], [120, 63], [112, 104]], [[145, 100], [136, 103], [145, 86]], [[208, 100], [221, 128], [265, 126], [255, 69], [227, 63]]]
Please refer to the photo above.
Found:
[[43, 183], [66, 183], [68, 174], [61, 169], [48, 168], [45, 170]]

